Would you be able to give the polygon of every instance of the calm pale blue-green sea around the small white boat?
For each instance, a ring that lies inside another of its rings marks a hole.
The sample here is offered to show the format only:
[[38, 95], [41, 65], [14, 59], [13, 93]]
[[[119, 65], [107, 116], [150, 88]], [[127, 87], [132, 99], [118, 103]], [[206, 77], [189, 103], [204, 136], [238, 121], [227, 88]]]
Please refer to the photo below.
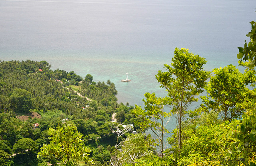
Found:
[[[175, 47], [206, 58], [206, 71], [237, 66], [255, 7], [255, 0], [1, 0], [0, 59], [46, 60], [53, 70], [110, 79], [119, 103], [143, 107], [146, 92], [166, 96], [154, 76]], [[121, 82], [126, 73], [131, 81]]]

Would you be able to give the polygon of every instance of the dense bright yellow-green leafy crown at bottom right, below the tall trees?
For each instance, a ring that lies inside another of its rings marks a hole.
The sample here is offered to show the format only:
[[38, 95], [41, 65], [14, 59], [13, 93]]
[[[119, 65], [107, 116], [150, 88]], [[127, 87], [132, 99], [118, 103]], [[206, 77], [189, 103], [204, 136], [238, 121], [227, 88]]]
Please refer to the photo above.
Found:
[[[229, 157], [225, 154], [231, 150], [234, 141], [232, 136], [226, 136], [234, 129], [227, 122], [221, 124], [200, 125], [190, 131], [188, 138], [180, 153], [172, 153], [170, 158], [178, 159], [177, 165], [213, 165], [221, 166], [229, 164]], [[170, 149], [172, 150], [172, 148]]]

